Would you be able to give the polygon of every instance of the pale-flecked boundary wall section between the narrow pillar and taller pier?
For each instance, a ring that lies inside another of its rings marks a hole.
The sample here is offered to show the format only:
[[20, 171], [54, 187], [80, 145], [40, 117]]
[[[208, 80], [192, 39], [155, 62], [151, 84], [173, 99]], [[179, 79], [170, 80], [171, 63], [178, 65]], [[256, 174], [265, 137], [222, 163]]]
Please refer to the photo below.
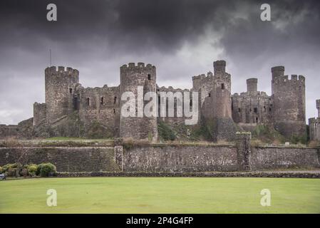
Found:
[[123, 171], [202, 172], [237, 170], [236, 147], [133, 147], [123, 152]]

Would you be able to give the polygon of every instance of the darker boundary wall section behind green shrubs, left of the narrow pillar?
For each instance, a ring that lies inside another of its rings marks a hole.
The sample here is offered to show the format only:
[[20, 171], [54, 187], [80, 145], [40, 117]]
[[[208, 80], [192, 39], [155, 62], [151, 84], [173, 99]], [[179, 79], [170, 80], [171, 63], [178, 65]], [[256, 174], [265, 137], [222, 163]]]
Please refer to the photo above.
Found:
[[51, 162], [58, 172], [119, 171], [113, 147], [0, 147], [0, 166]]

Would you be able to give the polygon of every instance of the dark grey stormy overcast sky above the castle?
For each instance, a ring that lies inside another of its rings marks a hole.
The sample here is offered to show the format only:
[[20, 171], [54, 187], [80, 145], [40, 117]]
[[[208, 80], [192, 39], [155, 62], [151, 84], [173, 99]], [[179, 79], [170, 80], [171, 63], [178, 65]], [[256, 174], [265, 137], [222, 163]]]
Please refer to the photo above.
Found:
[[[56, 4], [58, 21], [46, 20]], [[271, 6], [272, 21], [260, 20]], [[44, 69], [71, 66], [85, 87], [118, 86], [119, 68], [157, 67], [159, 86], [191, 88], [192, 76], [227, 61], [232, 93], [258, 78], [271, 95], [271, 67], [306, 76], [306, 118], [320, 98], [320, 1], [1, 0], [0, 123], [33, 116], [44, 102]]]

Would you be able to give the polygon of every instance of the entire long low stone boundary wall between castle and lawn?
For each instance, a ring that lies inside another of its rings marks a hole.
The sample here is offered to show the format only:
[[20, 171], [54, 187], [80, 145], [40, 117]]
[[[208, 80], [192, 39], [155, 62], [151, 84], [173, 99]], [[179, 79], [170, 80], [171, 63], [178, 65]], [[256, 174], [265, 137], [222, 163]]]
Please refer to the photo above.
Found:
[[320, 149], [251, 147], [249, 133], [235, 144], [137, 142], [123, 140], [0, 141], [0, 166], [51, 162], [58, 172], [234, 172], [320, 170]]

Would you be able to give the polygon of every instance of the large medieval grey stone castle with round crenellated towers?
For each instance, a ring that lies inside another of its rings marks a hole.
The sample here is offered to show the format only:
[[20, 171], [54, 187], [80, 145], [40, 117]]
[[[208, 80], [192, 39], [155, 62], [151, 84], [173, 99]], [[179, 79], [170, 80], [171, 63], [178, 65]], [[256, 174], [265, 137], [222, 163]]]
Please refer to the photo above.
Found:
[[[150, 64], [129, 63], [120, 67], [120, 85], [84, 88], [79, 71], [51, 66], [45, 70], [46, 102], [34, 103], [33, 118], [19, 125], [0, 125], [0, 137], [47, 138], [53, 136], [134, 138], [158, 140], [158, 122], [181, 124], [185, 117], [124, 118], [120, 115], [121, 95], [155, 92], [160, 107], [161, 92], [198, 92], [198, 124], [212, 126], [212, 141], [234, 140], [237, 130], [252, 130], [257, 125], [272, 125], [286, 138], [306, 135], [305, 78], [284, 75], [284, 66], [272, 68], [272, 95], [257, 90], [257, 78], [247, 80], [247, 92], [231, 93], [231, 76], [225, 61], [213, 63], [213, 73], [192, 77], [190, 90], [159, 87], [156, 68]], [[175, 110], [180, 98], [175, 99]], [[193, 103], [195, 103], [193, 101]], [[190, 100], [192, 108], [192, 100]], [[320, 101], [317, 100], [319, 110]], [[158, 112], [160, 111], [160, 108]], [[176, 112], [175, 112], [176, 113]], [[319, 138], [318, 119], [309, 120]], [[315, 130], [318, 129], [318, 130]]]

